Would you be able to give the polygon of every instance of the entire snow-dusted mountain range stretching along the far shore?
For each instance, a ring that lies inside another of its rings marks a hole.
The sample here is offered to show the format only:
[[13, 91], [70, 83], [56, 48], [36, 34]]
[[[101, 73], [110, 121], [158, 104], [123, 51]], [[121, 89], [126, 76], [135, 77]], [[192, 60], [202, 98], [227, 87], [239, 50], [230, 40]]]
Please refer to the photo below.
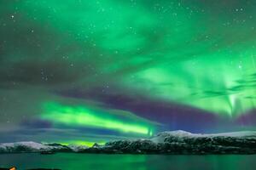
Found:
[[201, 134], [179, 130], [158, 133], [151, 139], [114, 140], [103, 145], [94, 144], [92, 147], [35, 142], [0, 144], [0, 153], [42, 151], [115, 154], [256, 154], [256, 132]]

